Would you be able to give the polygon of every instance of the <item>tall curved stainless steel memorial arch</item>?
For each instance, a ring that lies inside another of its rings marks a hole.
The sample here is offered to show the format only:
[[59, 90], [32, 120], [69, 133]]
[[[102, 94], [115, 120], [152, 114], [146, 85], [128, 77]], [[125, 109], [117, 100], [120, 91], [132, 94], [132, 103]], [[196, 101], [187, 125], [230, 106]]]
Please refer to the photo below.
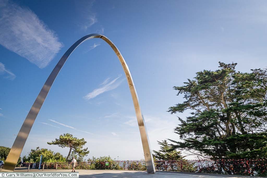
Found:
[[142, 144], [143, 144], [144, 156], [145, 156], [145, 160], [146, 160], [147, 172], [148, 173], [155, 173], [156, 172], [153, 157], [152, 157], [152, 152], [151, 152], [151, 148], [150, 148], [150, 143], [149, 143], [149, 139], [148, 139], [148, 135], [147, 135], [147, 129], [146, 129], [146, 125], [144, 122], [144, 117], [143, 117], [143, 114], [142, 114], [140, 106], [139, 106], [139, 100], [138, 100], [135, 86], [133, 84], [131, 73], [129, 71], [129, 68], [128, 68], [124, 58], [122, 57], [122, 55], [121, 55], [120, 51], [117, 49], [117, 47], [107, 37], [105, 37], [104, 35], [101, 35], [101, 34], [90, 34], [90, 35], [86, 35], [86, 36], [82, 37], [81, 39], [76, 41], [66, 51], [66, 53], [61, 57], [61, 59], [58, 61], [56, 67], [53, 69], [53, 71], [51, 72], [51, 74], [47, 78], [43, 88], [41, 89], [36, 100], [34, 101], [33, 106], [30, 109], [25, 121], [23, 122], [21, 129], [19, 130], [19, 133], [18, 133], [18, 135], [17, 135], [17, 137], [13, 143], [13, 146], [12, 146], [8, 156], [7, 156], [5, 165], [2, 168], [1, 172], [13, 172], [14, 171], [15, 166], [17, 164], [17, 161], [19, 159], [19, 156], [21, 154], [21, 151], [25, 145], [25, 142], [29, 136], [30, 130], [33, 126], [33, 123], [34, 123], [34, 121], [35, 121], [44, 101], [45, 101], [45, 98], [46, 98], [54, 80], [56, 79], [59, 71], [61, 70], [61, 68], [65, 64], [65, 62], [68, 59], [68, 57], [70, 56], [70, 54], [81, 43], [83, 43], [84, 41], [91, 39], [91, 38], [101, 38], [105, 42], [107, 42], [111, 46], [111, 48], [114, 50], [114, 52], [116, 53], [117, 57], [120, 60], [120, 63], [123, 67], [123, 70], [125, 72], [125, 75], [126, 75], [126, 78], [128, 81], [128, 85], [129, 85], [130, 92], [131, 92], [132, 99], [133, 99], [133, 105], [135, 107], [135, 113], [136, 113], [136, 117], [137, 117], [137, 121], [138, 121], [141, 140], [142, 140]]

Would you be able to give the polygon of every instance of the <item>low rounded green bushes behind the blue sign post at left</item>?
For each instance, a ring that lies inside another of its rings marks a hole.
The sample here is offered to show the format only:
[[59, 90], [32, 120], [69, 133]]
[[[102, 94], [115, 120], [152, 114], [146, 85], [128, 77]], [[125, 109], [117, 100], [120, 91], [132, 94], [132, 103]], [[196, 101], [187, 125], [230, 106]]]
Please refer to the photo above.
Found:
[[52, 150], [48, 150], [45, 148], [32, 149], [29, 153], [29, 156], [23, 156], [23, 162], [30, 162], [30, 163], [38, 163], [40, 162], [41, 155], [42, 162], [45, 163], [56, 163], [56, 162], [65, 162], [66, 159], [60, 153], [54, 153]]

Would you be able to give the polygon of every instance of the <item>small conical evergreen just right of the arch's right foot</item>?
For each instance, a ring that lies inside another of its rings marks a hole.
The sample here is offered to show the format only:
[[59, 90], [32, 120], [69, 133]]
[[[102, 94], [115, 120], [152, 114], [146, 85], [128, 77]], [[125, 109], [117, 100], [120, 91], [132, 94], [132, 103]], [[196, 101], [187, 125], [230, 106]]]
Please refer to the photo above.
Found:
[[157, 160], [180, 160], [183, 158], [180, 151], [173, 150], [170, 145], [168, 145], [167, 140], [158, 141], [160, 146], [159, 151], [153, 150], [155, 154], [153, 157]]

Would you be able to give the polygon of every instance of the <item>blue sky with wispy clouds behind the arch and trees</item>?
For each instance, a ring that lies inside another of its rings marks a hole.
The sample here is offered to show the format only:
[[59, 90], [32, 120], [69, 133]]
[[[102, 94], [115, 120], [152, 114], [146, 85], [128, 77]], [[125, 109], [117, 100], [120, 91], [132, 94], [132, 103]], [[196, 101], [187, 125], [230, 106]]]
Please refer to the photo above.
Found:
[[[152, 150], [174, 139], [182, 102], [173, 86], [218, 61], [237, 70], [266, 67], [266, 1], [0, 0], [0, 145], [11, 147], [44, 82], [66, 50], [91, 33], [106, 35], [131, 71]], [[115, 53], [101, 39], [80, 45], [54, 82], [22, 151], [60, 134], [87, 140], [87, 157], [143, 159], [131, 94]], [[189, 157], [190, 158], [190, 157]]]

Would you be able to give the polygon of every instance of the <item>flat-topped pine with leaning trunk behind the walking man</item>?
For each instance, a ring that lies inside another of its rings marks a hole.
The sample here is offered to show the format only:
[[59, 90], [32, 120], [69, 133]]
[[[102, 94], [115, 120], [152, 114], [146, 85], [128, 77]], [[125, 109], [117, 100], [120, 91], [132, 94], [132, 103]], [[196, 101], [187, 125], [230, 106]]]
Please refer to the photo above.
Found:
[[78, 155], [81, 157], [87, 156], [89, 153], [88, 148], [83, 149], [83, 146], [86, 143], [87, 141], [85, 141], [84, 138], [77, 139], [77, 137], [73, 137], [73, 135], [69, 133], [64, 133], [63, 135], [60, 135], [59, 139], [56, 139], [55, 141], [47, 142], [47, 144], [49, 145], [58, 145], [61, 148], [70, 148], [66, 160], [69, 160], [69, 156], [72, 151], [78, 153]]

